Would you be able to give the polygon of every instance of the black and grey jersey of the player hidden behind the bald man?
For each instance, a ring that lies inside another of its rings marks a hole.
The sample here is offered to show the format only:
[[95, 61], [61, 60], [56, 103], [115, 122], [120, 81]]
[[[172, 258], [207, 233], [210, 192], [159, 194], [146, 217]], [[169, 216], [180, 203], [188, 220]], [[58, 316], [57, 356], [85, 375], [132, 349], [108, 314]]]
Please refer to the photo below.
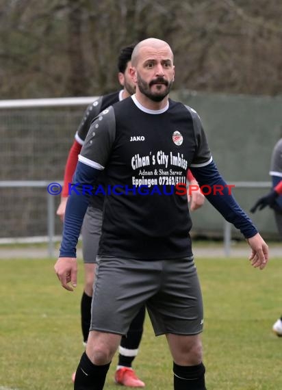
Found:
[[[110, 105], [113, 105], [114, 103], [117, 103], [118, 101], [123, 100], [122, 95], [123, 90], [113, 92], [112, 94], [100, 96], [99, 99], [95, 100], [87, 107], [86, 112], [84, 113], [84, 117], [80, 122], [77, 132], [75, 133], [75, 140], [79, 144], [84, 144], [92, 120], [94, 120], [94, 118], [96, 118], [99, 113], [103, 111], [103, 109], [109, 107]], [[102, 173], [99, 177], [99, 183], [97, 184], [104, 185], [105, 182], [106, 178]], [[102, 196], [102, 194], [97, 194], [97, 196], [90, 197], [90, 205], [92, 205], [92, 207], [95, 207], [96, 209], [103, 209], [103, 201], [104, 197]]]

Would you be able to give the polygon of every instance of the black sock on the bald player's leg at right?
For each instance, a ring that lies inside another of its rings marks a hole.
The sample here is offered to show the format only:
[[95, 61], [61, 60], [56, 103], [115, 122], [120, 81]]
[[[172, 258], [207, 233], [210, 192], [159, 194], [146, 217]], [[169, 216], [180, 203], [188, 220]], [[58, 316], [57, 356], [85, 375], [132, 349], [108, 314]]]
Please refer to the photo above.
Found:
[[203, 363], [188, 366], [173, 362], [173, 372], [175, 390], [206, 390]]

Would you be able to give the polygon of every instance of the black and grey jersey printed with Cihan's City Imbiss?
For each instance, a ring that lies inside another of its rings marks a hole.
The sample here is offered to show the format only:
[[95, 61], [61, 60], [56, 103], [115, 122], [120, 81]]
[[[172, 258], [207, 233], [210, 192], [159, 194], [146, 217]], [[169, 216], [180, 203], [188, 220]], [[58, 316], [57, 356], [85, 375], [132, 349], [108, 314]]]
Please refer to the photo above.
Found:
[[176, 189], [189, 166], [211, 162], [194, 110], [169, 99], [168, 107], [151, 111], [133, 95], [92, 122], [79, 161], [107, 172], [99, 255], [192, 255], [187, 195]]

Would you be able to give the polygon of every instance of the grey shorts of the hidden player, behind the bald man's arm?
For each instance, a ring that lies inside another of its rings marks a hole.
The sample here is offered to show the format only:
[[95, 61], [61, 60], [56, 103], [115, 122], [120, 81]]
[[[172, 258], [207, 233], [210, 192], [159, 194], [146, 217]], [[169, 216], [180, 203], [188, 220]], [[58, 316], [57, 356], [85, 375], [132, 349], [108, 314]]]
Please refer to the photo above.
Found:
[[89, 206], [81, 228], [84, 263], [96, 263], [102, 221], [103, 211]]

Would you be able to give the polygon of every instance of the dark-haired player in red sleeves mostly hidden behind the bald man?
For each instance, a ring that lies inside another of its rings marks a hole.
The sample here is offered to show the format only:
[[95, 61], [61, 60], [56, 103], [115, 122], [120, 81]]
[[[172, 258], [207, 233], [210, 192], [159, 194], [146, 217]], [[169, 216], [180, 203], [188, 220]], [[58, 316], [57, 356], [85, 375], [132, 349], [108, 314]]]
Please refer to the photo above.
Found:
[[[66, 201], [68, 199], [68, 186], [69, 183], [72, 182], [73, 174], [77, 166], [78, 155], [84, 144], [92, 120], [98, 116], [103, 109], [117, 103], [118, 101], [126, 99], [136, 90], [135, 83], [133, 83], [129, 75], [133, 48], [133, 44], [128, 47], [124, 47], [118, 55], [118, 81], [120, 82], [120, 85], [123, 86], [123, 90], [100, 96], [99, 99], [91, 103], [86, 109], [79, 128], [75, 133], [75, 140], [71, 146], [70, 152], [68, 153], [68, 159], [66, 162], [61, 203], [57, 208], [57, 215], [60, 216], [62, 220], [64, 220]], [[198, 184], [190, 171], [188, 172], [188, 181], [190, 185]], [[105, 183], [105, 177], [100, 176], [97, 186], [103, 185], [103, 183]], [[201, 194], [200, 191], [194, 190], [191, 193], [190, 198], [191, 210], [198, 209], [198, 207], [203, 205], [203, 194]], [[101, 235], [103, 200], [104, 196], [101, 193], [90, 198], [86, 216], [84, 217], [84, 224], [81, 229], [85, 280], [84, 292], [81, 297], [81, 330], [85, 346], [90, 328], [94, 270]], [[126, 387], [144, 387], [144, 382], [136, 376], [131, 367], [133, 360], [138, 354], [138, 347], [143, 333], [144, 317], [145, 307], [143, 306], [131, 322], [126, 337], [122, 337], [118, 348], [118, 366], [116, 369], [115, 380], [116, 383]], [[75, 373], [73, 374], [73, 381], [74, 380]]]

